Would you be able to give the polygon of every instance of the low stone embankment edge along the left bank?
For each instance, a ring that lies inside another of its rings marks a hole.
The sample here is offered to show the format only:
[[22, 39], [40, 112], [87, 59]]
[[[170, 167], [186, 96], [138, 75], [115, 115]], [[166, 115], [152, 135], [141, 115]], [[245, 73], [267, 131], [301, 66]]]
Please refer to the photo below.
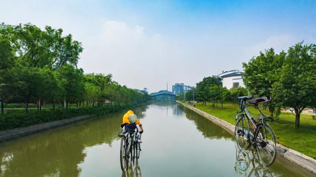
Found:
[[95, 116], [84, 115], [84, 116], [67, 118], [67, 119], [63, 119], [63, 120], [57, 120], [57, 121], [38, 124], [38, 125], [32, 125], [32, 126], [24, 127], [24, 128], [14, 128], [14, 129], [10, 129], [10, 130], [0, 131], [0, 142], [5, 141], [5, 140], [9, 140], [9, 139], [13, 139], [13, 138], [18, 138], [18, 137], [25, 136], [25, 135], [29, 135], [32, 133], [52, 129], [52, 128], [59, 127], [62, 125], [74, 123], [74, 122], [79, 121], [79, 120], [93, 118], [93, 117], [95, 117]]

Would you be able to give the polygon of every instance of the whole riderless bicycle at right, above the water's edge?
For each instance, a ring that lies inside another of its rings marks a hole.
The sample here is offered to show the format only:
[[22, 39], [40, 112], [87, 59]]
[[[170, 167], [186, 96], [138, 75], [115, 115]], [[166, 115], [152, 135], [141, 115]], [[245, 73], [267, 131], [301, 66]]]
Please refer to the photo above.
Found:
[[[265, 116], [259, 109], [259, 104], [267, 103], [267, 97], [251, 99], [252, 96], [237, 97], [240, 100], [240, 112], [236, 115], [235, 137], [239, 148], [248, 149], [253, 145], [261, 162], [270, 166], [276, 159], [276, 135], [266, 121], [273, 121], [272, 117]], [[251, 104], [261, 113], [254, 118], [247, 110], [246, 103]]]

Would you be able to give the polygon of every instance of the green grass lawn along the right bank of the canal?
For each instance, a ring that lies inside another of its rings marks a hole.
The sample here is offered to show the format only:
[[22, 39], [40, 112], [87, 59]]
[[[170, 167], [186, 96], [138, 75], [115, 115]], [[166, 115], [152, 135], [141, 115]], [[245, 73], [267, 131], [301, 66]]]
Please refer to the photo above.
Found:
[[[235, 117], [238, 106], [233, 103], [224, 103], [223, 109], [218, 104], [218, 108], [213, 109], [211, 103], [202, 106], [197, 103], [197, 109], [209, 113], [217, 118], [221, 118], [232, 124], [235, 124]], [[253, 117], [259, 115], [259, 112], [253, 107], [248, 107]], [[268, 110], [263, 111], [269, 116]], [[300, 128], [294, 129], [295, 115], [291, 113], [281, 113], [280, 118], [274, 122], [269, 122], [276, 134], [276, 141], [288, 148], [303, 152], [304, 154], [316, 159], [316, 118], [312, 115], [301, 115]]]

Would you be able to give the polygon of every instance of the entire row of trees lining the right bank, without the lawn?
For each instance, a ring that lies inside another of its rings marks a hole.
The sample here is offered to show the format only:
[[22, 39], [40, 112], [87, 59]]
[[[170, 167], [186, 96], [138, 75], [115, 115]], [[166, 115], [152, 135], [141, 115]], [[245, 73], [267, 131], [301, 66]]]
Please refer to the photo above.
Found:
[[316, 45], [297, 43], [287, 52], [276, 54], [274, 49], [243, 63], [244, 88], [226, 89], [216, 76], [206, 77], [197, 83], [197, 87], [183, 95], [184, 100], [214, 102], [231, 100], [237, 102], [237, 96], [267, 96], [272, 101], [268, 108], [272, 116], [280, 114], [280, 109], [293, 108], [296, 114], [295, 128], [300, 126], [300, 114], [307, 108], [316, 107]]

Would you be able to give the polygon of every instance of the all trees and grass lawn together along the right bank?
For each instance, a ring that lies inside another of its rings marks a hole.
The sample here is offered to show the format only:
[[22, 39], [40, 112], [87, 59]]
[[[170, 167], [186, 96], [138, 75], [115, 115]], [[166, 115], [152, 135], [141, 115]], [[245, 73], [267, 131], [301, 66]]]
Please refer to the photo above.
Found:
[[[277, 142], [316, 159], [315, 115], [301, 115], [305, 108], [316, 107], [316, 45], [300, 42], [279, 54], [271, 48], [243, 63], [243, 68], [246, 88], [223, 88], [220, 78], [212, 76], [177, 98], [195, 99], [197, 109], [235, 124], [239, 111], [237, 96], [267, 96], [271, 101], [261, 108], [265, 115], [275, 118], [270, 124]], [[281, 112], [289, 108], [294, 109], [295, 114]], [[249, 109], [259, 116], [254, 108]]]

